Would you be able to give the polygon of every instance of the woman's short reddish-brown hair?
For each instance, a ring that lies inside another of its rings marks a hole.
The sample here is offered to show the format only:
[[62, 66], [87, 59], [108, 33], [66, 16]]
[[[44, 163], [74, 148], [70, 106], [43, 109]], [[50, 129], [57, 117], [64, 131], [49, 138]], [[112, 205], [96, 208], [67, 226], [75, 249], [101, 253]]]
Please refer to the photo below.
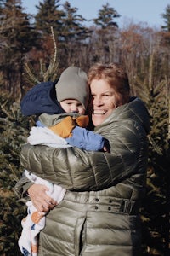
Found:
[[122, 65], [117, 63], [111, 64], [94, 64], [88, 71], [88, 84], [94, 79], [104, 79], [114, 90], [122, 95], [123, 102], [127, 102], [130, 93], [127, 73]]

